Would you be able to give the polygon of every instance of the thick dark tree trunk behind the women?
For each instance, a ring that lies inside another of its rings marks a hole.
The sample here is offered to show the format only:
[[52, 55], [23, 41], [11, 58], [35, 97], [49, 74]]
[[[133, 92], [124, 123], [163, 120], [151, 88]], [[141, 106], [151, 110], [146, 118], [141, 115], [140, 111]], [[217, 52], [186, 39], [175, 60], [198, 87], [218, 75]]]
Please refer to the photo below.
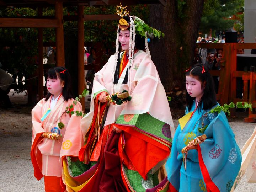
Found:
[[[165, 91], [185, 85], [184, 71], [193, 62], [204, 0], [167, 0], [151, 5], [149, 25], [165, 36], [150, 42], [150, 53]], [[179, 7], [179, 8], [178, 8]]]

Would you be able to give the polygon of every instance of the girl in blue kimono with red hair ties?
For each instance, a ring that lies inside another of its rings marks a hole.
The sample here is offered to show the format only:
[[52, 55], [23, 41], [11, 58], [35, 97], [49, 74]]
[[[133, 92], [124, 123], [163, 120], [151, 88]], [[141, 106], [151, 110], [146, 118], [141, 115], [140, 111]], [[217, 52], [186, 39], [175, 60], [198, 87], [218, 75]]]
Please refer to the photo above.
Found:
[[[187, 107], [166, 163], [170, 191], [229, 192], [242, 160], [235, 135], [223, 111], [210, 113], [219, 104], [208, 69], [196, 65], [186, 72]], [[189, 148], [185, 169], [182, 148], [203, 134], [207, 139]]]

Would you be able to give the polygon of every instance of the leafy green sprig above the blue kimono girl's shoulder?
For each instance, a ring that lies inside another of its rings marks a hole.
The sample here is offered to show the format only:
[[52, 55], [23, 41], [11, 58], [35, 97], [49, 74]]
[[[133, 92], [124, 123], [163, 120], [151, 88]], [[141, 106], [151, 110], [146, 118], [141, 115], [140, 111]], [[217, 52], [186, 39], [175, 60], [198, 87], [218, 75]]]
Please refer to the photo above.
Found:
[[[236, 105], [235, 105], [236, 104]], [[228, 113], [228, 116], [230, 116], [230, 111], [229, 108], [250, 108], [252, 110], [252, 103], [251, 102], [237, 102], [233, 103], [231, 102], [230, 104], [224, 104], [223, 106], [217, 106], [214, 109], [210, 110], [209, 113], [215, 113], [218, 112], [220, 113], [221, 111]]]

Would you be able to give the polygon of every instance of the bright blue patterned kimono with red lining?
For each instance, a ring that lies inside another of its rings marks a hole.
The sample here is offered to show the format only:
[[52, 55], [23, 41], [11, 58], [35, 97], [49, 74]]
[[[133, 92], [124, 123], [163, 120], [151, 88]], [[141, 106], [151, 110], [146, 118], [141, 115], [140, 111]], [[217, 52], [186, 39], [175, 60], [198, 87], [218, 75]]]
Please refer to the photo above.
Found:
[[[195, 103], [190, 111], [186, 108], [185, 113], [193, 112], [194, 109]], [[176, 130], [171, 155], [166, 163], [171, 191], [229, 192], [233, 186], [242, 161], [240, 149], [225, 113], [206, 114], [209, 111], [197, 108], [184, 128], [181, 130], [179, 125]], [[202, 124], [207, 128], [200, 133]], [[188, 151], [185, 171], [181, 150], [202, 134], [206, 134], [207, 139], [198, 145], [198, 150]]]

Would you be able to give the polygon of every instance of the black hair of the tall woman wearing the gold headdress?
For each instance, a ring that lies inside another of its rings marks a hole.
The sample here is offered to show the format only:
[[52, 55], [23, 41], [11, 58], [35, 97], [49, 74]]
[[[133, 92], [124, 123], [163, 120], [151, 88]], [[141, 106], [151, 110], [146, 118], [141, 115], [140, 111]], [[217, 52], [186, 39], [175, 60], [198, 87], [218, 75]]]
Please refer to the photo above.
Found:
[[[130, 24], [130, 18], [128, 16], [123, 16], [123, 19], [127, 21], [128, 24]], [[130, 27], [127, 28], [127, 30], [130, 30]], [[119, 28], [118, 33], [120, 33], [121, 29]], [[132, 37], [131, 37], [132, 38]], [[135, 47], [139, 50], [145, 51], [145, 38], [142, 37], [140, 34], [135, 35]], [[117, 66], [116, 66], [116, 71], [114, 74], [114, 84], [118, 83], [119, 80], [119, 71], [120, 71], [120, 49], [121, 49], [121, 43], [119, 42], [119, 53], [117, 57]], [[124, 76], [123, 84], [128, 83], [128, 70], [126, 70], [126, 75]]]

